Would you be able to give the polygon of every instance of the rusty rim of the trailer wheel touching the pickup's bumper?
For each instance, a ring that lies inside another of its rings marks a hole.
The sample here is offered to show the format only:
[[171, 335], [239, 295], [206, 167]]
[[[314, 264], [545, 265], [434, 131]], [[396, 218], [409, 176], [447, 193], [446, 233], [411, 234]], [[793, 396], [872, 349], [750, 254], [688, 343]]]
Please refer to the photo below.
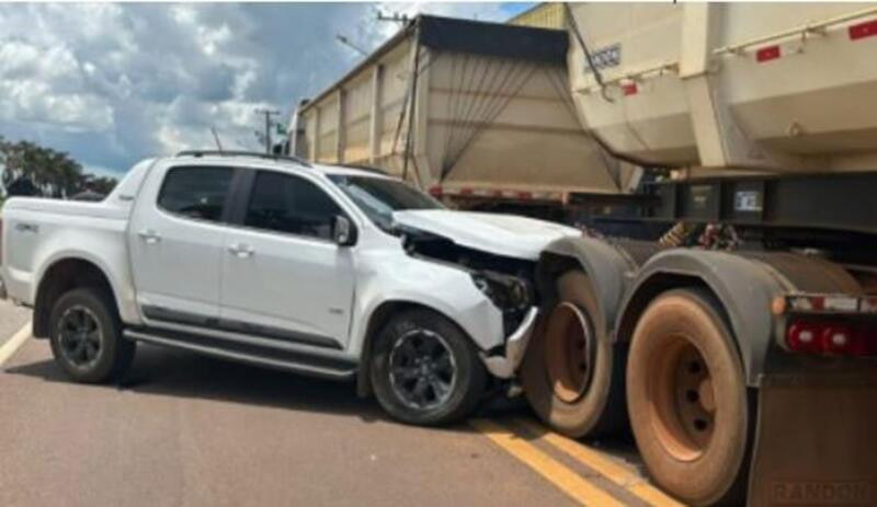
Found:
[[591, 382], [593, 338], [584, 312], [561, 302], [545, 329], [545, 367], [555, 395], [567, 403], [579, 400]]

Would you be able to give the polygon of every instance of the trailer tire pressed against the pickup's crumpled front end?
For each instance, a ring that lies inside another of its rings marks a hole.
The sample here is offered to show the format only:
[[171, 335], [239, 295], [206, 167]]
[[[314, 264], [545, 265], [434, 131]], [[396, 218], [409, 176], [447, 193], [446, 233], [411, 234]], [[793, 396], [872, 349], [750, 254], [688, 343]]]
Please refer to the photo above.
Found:
[[557, 304], [540, 320], [524, 357], [524, 394], [539, 418], [562, 434], [579, 438], [619, 433], [627, 427], [626, 350], [611, 343], [583, 272], [561, 275], [557, 295]]

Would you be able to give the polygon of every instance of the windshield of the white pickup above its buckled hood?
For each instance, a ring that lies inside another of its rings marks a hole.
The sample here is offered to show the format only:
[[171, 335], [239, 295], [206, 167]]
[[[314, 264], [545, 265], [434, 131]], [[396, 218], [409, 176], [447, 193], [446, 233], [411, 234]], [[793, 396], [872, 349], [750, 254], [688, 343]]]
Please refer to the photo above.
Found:
[[395, 180], [343, 174], [330, 175], [329, 180], [385, 231], [392, 228], [394, 211], [444, 209], [441, 203], [429, 195]]

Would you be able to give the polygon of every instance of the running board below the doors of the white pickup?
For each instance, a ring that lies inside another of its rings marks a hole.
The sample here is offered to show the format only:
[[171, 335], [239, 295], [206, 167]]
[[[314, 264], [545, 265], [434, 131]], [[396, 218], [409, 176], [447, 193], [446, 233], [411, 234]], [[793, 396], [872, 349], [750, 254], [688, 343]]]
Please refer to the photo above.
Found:
[[329, 380], [352, 380], [356, 364], [258, 346], [219, 346], [212, 338], [163, 330], [125, 330], [128, 339]]

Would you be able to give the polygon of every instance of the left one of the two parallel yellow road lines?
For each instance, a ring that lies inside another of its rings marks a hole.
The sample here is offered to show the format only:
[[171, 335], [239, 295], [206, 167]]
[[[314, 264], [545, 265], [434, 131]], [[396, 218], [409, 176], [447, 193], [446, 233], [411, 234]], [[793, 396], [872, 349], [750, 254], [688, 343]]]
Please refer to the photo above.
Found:
[[538, 448], [528, 443], [511, 430], [485, 419], [469, 420], [469, 425], [487, 436], [493, 443], [517, 458], [524, 464], [547, 479], [581, 505], [599, 507], [623, 507], [624, 504], [594, 486], [584, 477], [565, 466]]

